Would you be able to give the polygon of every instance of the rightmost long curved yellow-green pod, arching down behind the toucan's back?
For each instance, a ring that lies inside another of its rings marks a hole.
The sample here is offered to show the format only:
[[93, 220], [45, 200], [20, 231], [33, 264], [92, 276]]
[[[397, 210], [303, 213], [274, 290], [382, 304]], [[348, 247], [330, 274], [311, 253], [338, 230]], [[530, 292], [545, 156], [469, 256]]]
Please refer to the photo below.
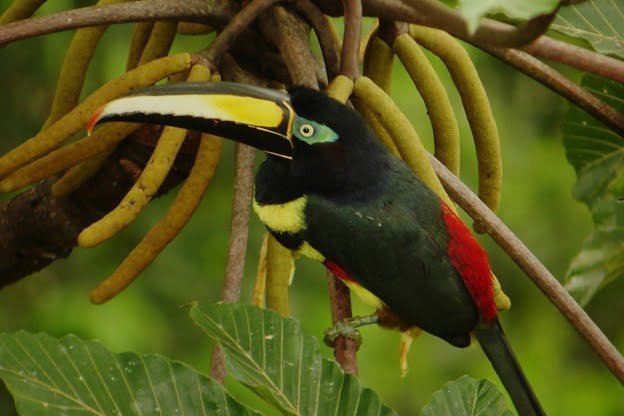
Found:
[[[479, 198], [494, 212], [503, 182], [500, 139], [490, 102], [466, 50], [448, 33], [410, 25], [410, 35], [444, 62], [459, 91], [470, 124], [479, 165]], [[482, 231], [476, 227], [477, 231]]]

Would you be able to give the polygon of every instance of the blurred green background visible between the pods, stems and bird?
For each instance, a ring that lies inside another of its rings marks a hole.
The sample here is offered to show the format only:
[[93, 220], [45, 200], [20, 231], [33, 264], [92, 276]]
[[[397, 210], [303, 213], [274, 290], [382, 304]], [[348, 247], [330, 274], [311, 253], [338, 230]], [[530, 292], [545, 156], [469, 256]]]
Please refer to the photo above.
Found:
[[[0, 10], [9, 0], [0, 0]], [[56, 0], [42, 13], [87, 5]], [[111, 28], [89, 69], [88, 93], [125, 67], [132, 25]], [[0, 126], [3, 153], [38, 131], [47, 116], [63, 52], [72, 33], [21, 41], [0, 49]], [[174, 51], [197, 50], [206, 38], [176, 40]], [[490, 97], [500, 129], [504, 156], [504, 191], [500, 217], [555, 274], [565, 275], [570, 259], [591, 229], [588, 210], [571, 194], [574, 172], [565, 160], [558, 126], [567, 104], [541, 85], [473, 48], [469, 52]], [[461, 102], [450, 77], [434, 65], [448, 87], [462, 134], [462, 179], [476, 184], [474, 147]], [[565, 71], [565, 68], [561, 68]], [[431, 128], [411, 81], [395, 66], [393, 96], [431, 148]], [[580, 74], [566, 72], [578, 79]], [[232, 144], [226, 145], [217, 175], [199, 210], [180, 236], [128, 290], [102, 306], [91, 305], [88, 292], [105, 278], [147, 230], [163, 215], [175, 192], [150, 204], [137, 223], [92, 249], [75, 249], [67, 260], [0, 291], [0, 330], [75, 333], [99, 339], [114, 351], [161, 353], [207, 372], [212, 345], [187, 318], [181, 305], [220, 298], [232, 197]], [[258, 162], [263, 156], [258, 155]], [[6, 200], [8, 197], [4, 197]], [[245, 259], [243, 302], [250, 299], [263, 227], [252, 217]], [[487, 237], [493, 269], [512, 299], [502, 315], [507, 335], [529, 379], [552, 415], [622, 415], [622, 386], [601, 364], [567, 321], [530, 280]], [[588, 312], [624, 350], [624, 282], [613, 283], [589, 305]], [[355, 313], [370, 312], [354, 300]], [[324, 268], [307, 259], [297, 264], [291, 309], [309, 335], [329, 326]], [[410, 372], [400, 378], [399, 334], [364, 328], [359, 353], [360, 379], [402, 415], [418, 414], [432, 393], [463, 374], [500, 383], [476, 346], [455, 349], [423, 335], [409, 356]], [[331, 350], [322, 347], [330, 357]], [[233, 385], [232, 382], [229, 383]], [[12, 415], [10, 398], [0, 400], [0, 415]]]

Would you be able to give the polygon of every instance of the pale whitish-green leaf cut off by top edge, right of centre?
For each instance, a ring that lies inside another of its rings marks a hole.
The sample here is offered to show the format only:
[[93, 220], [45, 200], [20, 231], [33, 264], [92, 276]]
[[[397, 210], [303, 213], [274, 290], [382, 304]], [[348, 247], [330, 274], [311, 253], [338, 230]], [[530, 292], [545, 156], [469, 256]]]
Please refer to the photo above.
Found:
[[468, 30], [474, 32], [481, 17], [488, 13], [504, 13], [512, 19], [528, 20], [550, 13], [557, 3], [557, 0], [463, 0], [459, 11], [468, 22]]

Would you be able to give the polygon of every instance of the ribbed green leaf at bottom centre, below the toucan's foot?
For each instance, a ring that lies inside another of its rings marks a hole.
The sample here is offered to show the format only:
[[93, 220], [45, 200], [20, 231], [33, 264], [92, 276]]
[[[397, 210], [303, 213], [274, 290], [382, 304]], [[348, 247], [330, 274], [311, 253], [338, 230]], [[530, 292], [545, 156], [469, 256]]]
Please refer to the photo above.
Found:
[[191, 306], [191, 318], [223, 348], [230, 374], [285, 415], [395, 415], [370, 389], [319, 353], [290, 318], [251, 305]]

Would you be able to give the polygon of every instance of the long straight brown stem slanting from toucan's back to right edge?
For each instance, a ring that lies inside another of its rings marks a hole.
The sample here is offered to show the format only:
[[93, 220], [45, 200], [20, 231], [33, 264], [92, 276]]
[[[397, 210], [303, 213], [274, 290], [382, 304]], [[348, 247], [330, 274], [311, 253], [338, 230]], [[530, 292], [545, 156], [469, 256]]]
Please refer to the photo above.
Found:
[[561, 286], [537, 257], [466, 185], [440, 161], [430, 155], [431, 163], [449, 196], [475, 221], [483, 224], [488, 234], [507, 252], [513, 261], [533, 280], [535, 285], [570, 321], [592, 346], [611, 372], [624, 383], [624, 358], [604, 333], [591, 320], [572, 296]]

